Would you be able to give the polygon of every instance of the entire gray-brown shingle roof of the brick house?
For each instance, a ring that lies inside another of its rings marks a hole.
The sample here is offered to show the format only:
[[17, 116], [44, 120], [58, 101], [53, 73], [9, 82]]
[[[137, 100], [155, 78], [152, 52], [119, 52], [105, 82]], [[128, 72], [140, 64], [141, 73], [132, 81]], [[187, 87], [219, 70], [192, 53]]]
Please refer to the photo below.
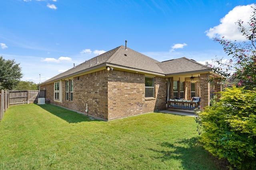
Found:
[[208, 68], [200, 63], [185, 57], [180, 59], [173, 59], [169, 61], [159, 62], [146, 55], [138, 53], [132, 49], [123, 45], [116, 47], [106, 53], [96, 56], [82, 64], [77, 65], [63, 73], [60, 73], [49, 80], [46, 80], [42, 84], [52, 82], [68, 76], [80, 74], [89, 70], [96, 69], [98, 67], [106, 66], [107, 64], [113, 64], [116, 66], [122, 66], [127, 69], [133, 68], [143, 71], [148, 71], [158, 74], [174, 74], [190, 71], [202, 71], [208, 70]]

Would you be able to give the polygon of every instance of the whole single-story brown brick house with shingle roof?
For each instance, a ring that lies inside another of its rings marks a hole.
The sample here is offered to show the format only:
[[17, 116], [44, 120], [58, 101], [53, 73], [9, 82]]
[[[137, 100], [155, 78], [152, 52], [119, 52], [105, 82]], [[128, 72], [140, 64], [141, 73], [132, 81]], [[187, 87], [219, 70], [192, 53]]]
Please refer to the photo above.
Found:
[[159, 62], [121, 45], [46, 80], [40, 89], [51, 104], [108, 121], [164, 110], [174, 97], [198, 96], [208, 106], [211, 76], [218, 75], [185, 57]]

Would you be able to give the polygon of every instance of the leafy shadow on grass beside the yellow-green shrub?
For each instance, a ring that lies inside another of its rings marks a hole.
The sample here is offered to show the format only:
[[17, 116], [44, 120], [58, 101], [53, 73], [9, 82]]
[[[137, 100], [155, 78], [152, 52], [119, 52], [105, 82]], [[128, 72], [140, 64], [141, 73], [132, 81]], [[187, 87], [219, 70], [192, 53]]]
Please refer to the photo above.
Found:
[[162, 154], [157, 159], [167, 161], [170, 159], [180, 160], [185, 170], [204, 169], [204, 170], [228, 170], [230, 164], [227, 160], [220, 160], [204, 149], [199, 141], [200, 137], [182, 139], [177, 143], [161, 143], [162, 150], [153, 150]]

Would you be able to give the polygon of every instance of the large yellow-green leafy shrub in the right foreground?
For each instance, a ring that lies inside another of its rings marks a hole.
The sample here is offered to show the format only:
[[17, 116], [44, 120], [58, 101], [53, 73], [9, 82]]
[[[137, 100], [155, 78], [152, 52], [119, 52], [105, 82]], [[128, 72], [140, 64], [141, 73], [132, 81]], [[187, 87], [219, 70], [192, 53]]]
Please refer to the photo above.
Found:
[[197, 111], [204, 147], [238, 169], [256, 167], [256, 88], [226, 88], [219, 102]]

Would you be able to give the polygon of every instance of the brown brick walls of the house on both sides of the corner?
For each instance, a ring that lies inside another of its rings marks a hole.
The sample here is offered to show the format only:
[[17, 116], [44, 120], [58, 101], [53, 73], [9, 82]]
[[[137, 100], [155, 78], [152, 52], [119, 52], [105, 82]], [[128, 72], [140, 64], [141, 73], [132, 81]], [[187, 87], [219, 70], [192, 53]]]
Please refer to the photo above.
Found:
[[155, 77], [155, 98], [145, 99], [144, 74], [120, 70], [100, 70], [74, 77], [73, 102], [66, 100], [66, 82], [62, 80], [62, 103], [54, 102], [54, 83], [46, 88], [52, 104], [67, 107], [105, 120], [160, 111], [166, 107], [165, 78]]

